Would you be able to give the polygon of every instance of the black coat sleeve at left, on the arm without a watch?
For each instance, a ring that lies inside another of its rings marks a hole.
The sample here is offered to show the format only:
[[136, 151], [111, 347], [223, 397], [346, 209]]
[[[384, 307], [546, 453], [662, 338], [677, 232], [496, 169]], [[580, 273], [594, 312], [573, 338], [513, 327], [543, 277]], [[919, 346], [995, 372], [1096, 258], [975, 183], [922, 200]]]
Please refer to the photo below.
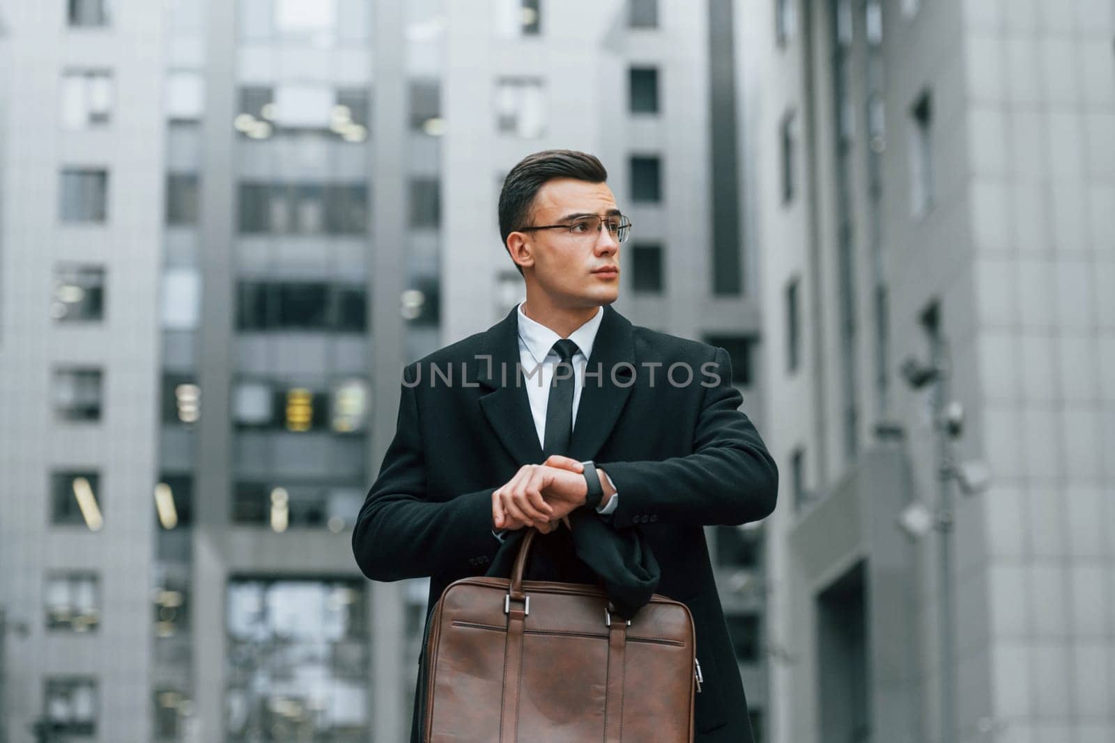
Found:
[[[404, 379], [415, 379], [415, 372], [408, 366]], [[414, 385], [404, 384], [395, 439], [352, 529], [352, 554], [372, 580], [463, 576], [500, 546], [492, 536], [495, 488], [444, 502], [428, 499], [420, 431]]]

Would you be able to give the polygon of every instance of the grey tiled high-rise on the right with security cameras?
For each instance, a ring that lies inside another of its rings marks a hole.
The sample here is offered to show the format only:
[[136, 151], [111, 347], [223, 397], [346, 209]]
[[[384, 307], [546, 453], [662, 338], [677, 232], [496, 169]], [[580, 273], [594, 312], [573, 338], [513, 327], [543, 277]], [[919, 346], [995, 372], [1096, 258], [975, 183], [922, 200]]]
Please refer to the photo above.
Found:
[[770, 740], [1109, 740], [1111, 2], [741, 2]]

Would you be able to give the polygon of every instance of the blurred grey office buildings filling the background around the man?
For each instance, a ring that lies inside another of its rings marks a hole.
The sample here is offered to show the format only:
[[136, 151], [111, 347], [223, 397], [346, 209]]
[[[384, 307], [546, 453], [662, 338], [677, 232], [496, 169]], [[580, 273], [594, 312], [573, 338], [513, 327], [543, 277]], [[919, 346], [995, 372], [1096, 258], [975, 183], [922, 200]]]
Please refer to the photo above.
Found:
[[1113, 41], [1115, 0], [0, 0], [0, 742], [406, 740], [426, 586], [351, 526], [403, 365], [521, 299], [496, 202], [549, 147], [779, 463], [706, 530], [757, 740], [1115, 741]]

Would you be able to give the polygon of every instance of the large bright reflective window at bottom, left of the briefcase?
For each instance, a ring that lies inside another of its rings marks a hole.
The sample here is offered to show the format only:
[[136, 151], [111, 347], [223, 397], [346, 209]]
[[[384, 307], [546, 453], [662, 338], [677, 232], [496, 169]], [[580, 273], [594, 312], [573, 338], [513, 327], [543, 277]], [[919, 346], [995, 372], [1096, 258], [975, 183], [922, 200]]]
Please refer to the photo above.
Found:
[[226, 730], [235, 740], [368, 740], [358, 580], [232, 579]]

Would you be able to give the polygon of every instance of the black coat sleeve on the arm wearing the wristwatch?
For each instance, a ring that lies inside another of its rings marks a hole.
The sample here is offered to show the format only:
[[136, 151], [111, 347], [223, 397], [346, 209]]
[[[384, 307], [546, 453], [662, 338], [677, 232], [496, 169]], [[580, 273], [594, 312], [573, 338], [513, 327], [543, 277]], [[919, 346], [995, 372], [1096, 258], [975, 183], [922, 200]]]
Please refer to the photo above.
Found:
[[[623, 495], [612, 524], [739, 525], [766, 518], [778, 497], [778, 468], [739, 410], [731, 361], [717, 349], [719, 383], [705, 388], [694, 453], [662, 461], [598, 462]], [[636, 520], [638, 519], [638, 520]]]

